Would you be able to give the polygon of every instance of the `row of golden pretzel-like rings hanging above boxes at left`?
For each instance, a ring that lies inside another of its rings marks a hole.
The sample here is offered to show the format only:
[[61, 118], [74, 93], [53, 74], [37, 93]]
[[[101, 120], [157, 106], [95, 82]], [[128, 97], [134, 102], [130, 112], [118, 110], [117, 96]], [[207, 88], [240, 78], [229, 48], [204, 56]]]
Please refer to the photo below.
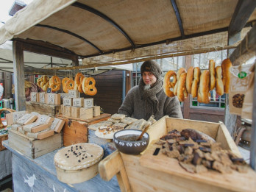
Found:
[[65, 77], [60, 81], [60, 77], [54, 76], [49, 79], [46, 75], [38, 78], [37, 84], [44, 91], [51, 88], [52, 91], [60, 90], [63, 85], [63, 91], [68, 93], [68, 90], [79, 90], [80, 93], [85, 93], [88, 96], [94, 96], [97, 93], [95, 87], [95, 79], [93, 77], [84, 77], [82, 73], [77, 73], [75, 79]]

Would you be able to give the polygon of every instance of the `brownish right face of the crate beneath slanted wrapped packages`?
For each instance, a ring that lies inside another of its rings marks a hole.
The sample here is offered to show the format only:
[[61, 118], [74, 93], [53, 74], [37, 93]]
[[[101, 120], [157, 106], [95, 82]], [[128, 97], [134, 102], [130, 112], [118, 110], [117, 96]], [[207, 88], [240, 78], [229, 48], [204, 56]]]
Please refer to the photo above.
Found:
[[35, 140], [34, 142], [35, 156], [33, 158], [40, 157], [43, 154], [52, 152], [56, 149], [60, 149], [60, 147], [62, 146], [63, 146], [62, 132], [54, 134], [49, 138], [44, 138], [42, 140]]

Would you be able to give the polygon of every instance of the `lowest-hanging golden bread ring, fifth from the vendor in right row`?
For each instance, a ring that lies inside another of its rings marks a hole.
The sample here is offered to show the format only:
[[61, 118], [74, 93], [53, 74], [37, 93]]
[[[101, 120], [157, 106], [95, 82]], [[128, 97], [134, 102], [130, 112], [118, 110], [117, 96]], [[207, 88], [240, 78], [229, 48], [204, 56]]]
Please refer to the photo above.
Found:
[[205, 70], [200, 76], [199, 88], [197, 92], [197, 101], [200, 103], [209, 103], [210, 94], [210, 71]]

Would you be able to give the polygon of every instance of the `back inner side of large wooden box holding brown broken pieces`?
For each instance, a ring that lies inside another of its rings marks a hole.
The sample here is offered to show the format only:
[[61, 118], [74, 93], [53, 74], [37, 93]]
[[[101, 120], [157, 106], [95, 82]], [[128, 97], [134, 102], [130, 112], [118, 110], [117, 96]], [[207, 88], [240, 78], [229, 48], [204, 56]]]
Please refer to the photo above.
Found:
[[218, 133], [218, 123], [210, 123], [207, 121], [195, 121], [181, 118], [166, 118], [167, 131], [177, 129], [179, 132], [182, 129], [196, 129], [204, 132], [211, 138], [216, 139]]

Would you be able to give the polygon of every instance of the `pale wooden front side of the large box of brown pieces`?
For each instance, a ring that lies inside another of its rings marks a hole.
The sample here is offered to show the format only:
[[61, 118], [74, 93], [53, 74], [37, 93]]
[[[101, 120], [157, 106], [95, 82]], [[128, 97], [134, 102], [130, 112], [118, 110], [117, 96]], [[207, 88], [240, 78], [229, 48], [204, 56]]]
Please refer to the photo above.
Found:
[[138, 155], [121, 153], [132, 191], [230, 191], [204, 182], [156, 171], [140, 165]]

